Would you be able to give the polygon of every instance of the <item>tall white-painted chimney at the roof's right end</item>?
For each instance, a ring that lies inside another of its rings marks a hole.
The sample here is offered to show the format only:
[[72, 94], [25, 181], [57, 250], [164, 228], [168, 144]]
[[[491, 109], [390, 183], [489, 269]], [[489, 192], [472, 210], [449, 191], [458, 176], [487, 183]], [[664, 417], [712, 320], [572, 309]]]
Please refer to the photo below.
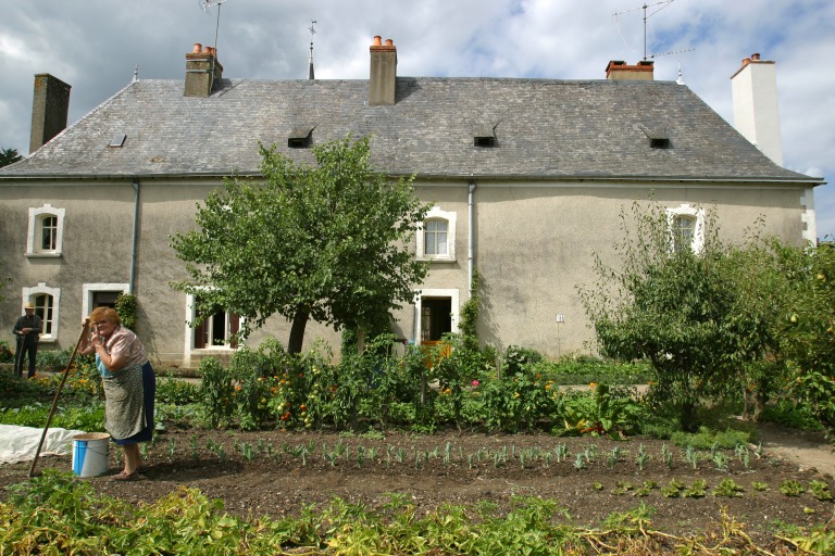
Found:
[[783, 141], [775, 63], [760, 60], [760, 54], [744, 59], [743, 66], [731, 76], [731, 92], [736, 130], [782, 166]]

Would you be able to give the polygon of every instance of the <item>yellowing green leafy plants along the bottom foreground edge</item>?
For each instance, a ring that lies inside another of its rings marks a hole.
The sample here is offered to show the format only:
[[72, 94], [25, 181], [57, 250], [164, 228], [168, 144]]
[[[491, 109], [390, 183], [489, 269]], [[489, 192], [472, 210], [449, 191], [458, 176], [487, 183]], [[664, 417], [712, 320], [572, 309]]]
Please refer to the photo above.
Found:
[[[645, 485], [644, 489], [651, 489]], [[98, 494], [89, 481], [46, 470], [14, 485], [0, 503], [0, 546], [11, 554], [619, 554], [759, 552], [741, 525], [721, 515], [716, 529], [677, 536], [653, 531], [644, 504], [612, 513], [602, 529], [581, 527], [558, 502], [515, 496], [507, 510], [495, 504], [444, 504], [418, 513], [402, 494], [381, 510], [332, 498], [320, 507], [273, 520], [239, 518], [223, 503], [179, 488], [152, 504]], [[556, 518], [559, 516], [559, 518]], [[793, 528], [786, 542], [826, 553], [832, 534]], [[716, 544], [716, 540], [720, 543]], [[659, 544], [663, 543], [663, 544]], [[710, 546], [710, 548], [708, 547]], [[769, 546], [773, 552], [773, 548]], [[764, 548], [763, 548], [764, 549]], [[649, 551], [649, 552], [648, 552]]]

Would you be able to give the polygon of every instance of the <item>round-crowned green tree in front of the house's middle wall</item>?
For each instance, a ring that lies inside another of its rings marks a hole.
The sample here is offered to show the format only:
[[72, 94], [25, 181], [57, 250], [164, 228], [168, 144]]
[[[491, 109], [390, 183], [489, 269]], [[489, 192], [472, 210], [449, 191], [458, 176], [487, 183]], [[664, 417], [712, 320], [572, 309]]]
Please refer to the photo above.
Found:
[[413, 178], [374, 170], [367, 138], [312, 151], [315, 165], [297, 164], [261, 146], [263, 181], [227, 178], [198, 205], [198, 229], [172, 237], [190, 275], [173, 286], [196, 294], [199, 314], [244, 316], [244, 337], [283, 315], [290, 353], [311, 318], [360, 331], [389, 319], [427, 271], [409, 249], [429, 208]]

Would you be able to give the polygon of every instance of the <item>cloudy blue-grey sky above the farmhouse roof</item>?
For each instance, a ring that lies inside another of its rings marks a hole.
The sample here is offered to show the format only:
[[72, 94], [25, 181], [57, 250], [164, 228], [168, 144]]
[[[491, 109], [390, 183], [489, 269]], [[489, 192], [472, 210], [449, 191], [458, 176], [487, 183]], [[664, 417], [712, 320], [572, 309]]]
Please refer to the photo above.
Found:
[[[183, 79], [195, 42], [216, 46], [224, 77], [303, 79], [312, 39], [317, 79], [366, 79], [369, 46], [379, 35], [397, 47], [398, 75], [413, 77], [602, 79], [610, 60], [634, 64], [646, 54], [656, 79], [675, 80], [681, 70], [732, 124], [731, 76], [760, 53], [776, 62], [784, 166], [835, 177], [832, 0], [201, 4], [0, 0], [0, 149], [28, 153], [35, 74], [72, 85], [72, 125], [128, 85], [137, 67], [140, 79]], [[834, 239], [835, 185], [815, 188], [814, 202], [818, 237]]]

